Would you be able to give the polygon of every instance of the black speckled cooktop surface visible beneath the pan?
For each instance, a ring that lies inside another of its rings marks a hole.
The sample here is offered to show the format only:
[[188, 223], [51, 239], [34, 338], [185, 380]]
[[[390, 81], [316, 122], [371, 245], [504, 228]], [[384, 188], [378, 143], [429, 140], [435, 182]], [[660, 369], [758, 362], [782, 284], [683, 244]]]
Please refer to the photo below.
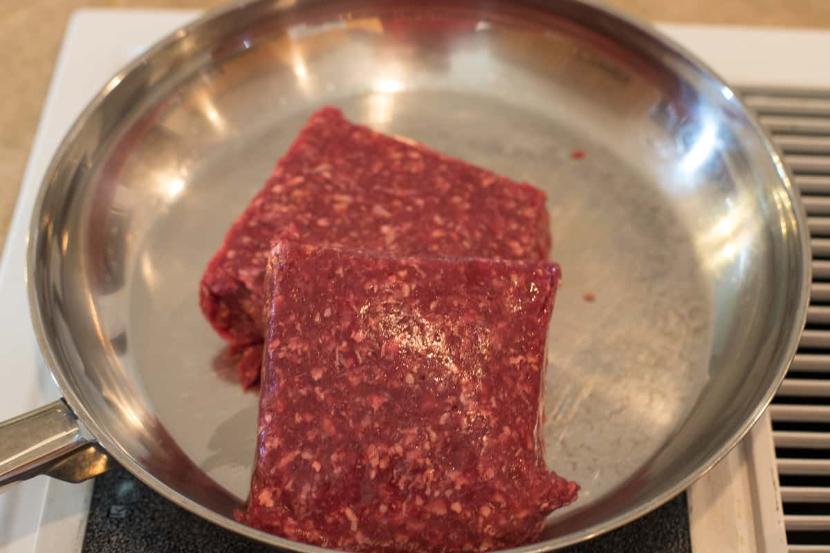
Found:
[[[274, 553], [203, 521], [123, 468], [95, 480], [83, 553]], [[691, 553], [686, 494], [567, 553]]]

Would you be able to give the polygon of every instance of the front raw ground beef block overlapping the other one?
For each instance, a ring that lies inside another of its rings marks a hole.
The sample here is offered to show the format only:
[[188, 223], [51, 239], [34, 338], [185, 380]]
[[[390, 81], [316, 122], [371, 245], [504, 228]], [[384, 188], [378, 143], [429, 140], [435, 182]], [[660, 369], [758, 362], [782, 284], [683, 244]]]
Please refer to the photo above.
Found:
[[280, 242], [250, 526], [346, 551], [489, 551], [577, 484], [539, 434], [556, 264]]

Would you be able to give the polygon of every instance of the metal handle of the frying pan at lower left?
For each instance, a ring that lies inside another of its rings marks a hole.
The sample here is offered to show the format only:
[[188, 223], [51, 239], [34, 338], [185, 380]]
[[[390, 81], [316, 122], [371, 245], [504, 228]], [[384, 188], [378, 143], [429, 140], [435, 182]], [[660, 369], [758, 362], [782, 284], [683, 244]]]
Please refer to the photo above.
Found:
[[63, 400], [0, 423], [0, 492], [38, 474], [81, 482], [110, 468]]

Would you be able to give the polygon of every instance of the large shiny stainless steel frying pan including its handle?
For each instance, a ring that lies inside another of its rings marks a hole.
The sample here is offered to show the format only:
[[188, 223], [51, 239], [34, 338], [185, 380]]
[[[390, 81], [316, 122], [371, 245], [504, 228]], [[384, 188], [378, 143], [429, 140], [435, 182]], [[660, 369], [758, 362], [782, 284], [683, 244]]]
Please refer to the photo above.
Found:
[[88, 478], [111, 456], [221, 526], [322, 551], [232, 520], [256, 394], [197, 288], [323, 104], [549, 194], [565, 279], [546, 454], [583, 492], [516, 551], [657, 507], [757, 420], [803, 327], [808, 234], [774, 148], [710, 70], [590, 2], [260, 0], [115, 75], [56, 154], [28, 286], [65, 399], [0, 426], [0, 483]]

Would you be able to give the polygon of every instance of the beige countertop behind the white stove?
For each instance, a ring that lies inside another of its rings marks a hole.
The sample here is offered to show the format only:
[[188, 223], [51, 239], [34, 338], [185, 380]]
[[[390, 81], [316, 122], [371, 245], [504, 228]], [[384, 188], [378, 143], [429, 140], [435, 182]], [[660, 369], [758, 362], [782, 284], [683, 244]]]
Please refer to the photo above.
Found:
[[[830, 0], [607, 0], [665, 22], [830, 30]], [[66, 21], [79, 7], [209, 8], [221, 0], [0, 0], [0, 244]]]

